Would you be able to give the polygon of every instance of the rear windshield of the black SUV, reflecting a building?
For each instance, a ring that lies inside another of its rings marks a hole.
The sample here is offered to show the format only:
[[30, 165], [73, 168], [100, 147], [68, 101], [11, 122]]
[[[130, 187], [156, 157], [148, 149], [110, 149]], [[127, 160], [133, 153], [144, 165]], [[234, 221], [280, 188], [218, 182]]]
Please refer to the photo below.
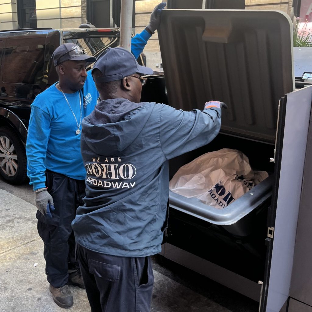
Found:
[[[88, 37], [78, 39], [64, 39], [64, 43], [74, 43], [84, 49], [85, 53], [90, 56], [98, 57], [108, 47], [115, 48], [119, 46], [119, 37]], [[87, 68], [92, 68], [93, 63]]]

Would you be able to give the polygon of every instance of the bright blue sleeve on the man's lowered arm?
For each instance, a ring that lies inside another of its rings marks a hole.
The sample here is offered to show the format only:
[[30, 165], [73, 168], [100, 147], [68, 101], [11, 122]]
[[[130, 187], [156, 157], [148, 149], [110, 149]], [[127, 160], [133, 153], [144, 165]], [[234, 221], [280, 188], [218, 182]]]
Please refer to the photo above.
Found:
[[27, 144], [27, 176], [34, 191], [46, 187], [46, 149], [50, 136], [50, 116], [36, 106], [32, 106]]

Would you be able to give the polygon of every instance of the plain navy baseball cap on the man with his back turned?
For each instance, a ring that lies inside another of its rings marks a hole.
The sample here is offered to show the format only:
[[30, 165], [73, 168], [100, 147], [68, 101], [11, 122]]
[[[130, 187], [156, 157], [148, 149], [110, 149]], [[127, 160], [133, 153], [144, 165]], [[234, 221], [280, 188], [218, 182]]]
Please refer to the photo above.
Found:
[[97, 77], [96, 82], [121, 80], [135, 73], [152, 75], [154, 71], [140, 66], [133, 54], [124, 48], [108, 48], [95, 61], [92, 71], [97, 68], [103, 77]]

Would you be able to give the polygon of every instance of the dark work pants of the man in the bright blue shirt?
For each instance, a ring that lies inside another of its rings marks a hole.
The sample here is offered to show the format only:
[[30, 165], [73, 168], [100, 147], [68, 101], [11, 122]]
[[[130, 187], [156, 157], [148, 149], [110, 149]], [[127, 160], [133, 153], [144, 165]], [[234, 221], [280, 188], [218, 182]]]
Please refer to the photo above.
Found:
[[47, 170], [46, 186], [53, 198], [55, 210], [52, 219], [37, 211], [37, 228], [44, 242], [47, 280], [54, 287], [62, 287], [67, 284], [68, 269], [79, 267], [75, 260], [75, 237], [71, 222], [77, 208], [83, 205], [85, 181]]

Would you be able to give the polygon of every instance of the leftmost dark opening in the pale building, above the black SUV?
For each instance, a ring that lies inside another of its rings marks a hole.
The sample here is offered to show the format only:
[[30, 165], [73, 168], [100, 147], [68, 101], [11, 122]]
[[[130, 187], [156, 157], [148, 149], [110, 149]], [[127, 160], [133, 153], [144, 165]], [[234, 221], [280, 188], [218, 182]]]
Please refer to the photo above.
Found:
[[17, 21], [19, 28], [36, 28], [36, 0], [17, 0]]

